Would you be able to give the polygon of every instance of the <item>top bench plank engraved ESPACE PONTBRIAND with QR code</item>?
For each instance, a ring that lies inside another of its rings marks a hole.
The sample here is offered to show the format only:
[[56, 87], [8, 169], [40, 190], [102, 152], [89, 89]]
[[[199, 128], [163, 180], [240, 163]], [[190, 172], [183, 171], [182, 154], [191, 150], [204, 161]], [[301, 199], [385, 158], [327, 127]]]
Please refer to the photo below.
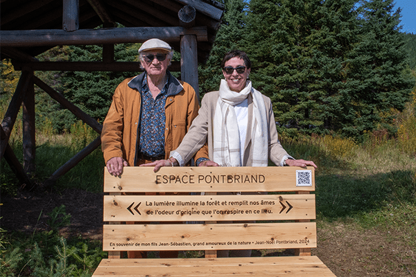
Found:
[[[297, 186], [297, 172], [309, 174], [310, 185]], [[150, 192], [253, 192], [313, 191], [314, 168], [270, 166], [265, 168], [125, 167], [121, 177], [104, 169], [105, 193]]]

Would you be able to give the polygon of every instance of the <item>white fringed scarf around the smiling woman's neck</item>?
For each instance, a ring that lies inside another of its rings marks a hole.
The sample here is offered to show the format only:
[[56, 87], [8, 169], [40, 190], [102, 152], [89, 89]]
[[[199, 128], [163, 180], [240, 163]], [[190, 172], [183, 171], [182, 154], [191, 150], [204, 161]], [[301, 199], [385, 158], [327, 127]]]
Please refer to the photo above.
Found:
[[234, 105], [243, 102], [252, 93], [252, 166], [268, 165], [268, 126], [266, 107], [260, 91], [252, 88], [248, 81], [240, 92], [229, 89], [221, 80], [220, 97], [214, 115], [214, 161], [220, 166], [243, 166], [241, 164], [239, 125]]

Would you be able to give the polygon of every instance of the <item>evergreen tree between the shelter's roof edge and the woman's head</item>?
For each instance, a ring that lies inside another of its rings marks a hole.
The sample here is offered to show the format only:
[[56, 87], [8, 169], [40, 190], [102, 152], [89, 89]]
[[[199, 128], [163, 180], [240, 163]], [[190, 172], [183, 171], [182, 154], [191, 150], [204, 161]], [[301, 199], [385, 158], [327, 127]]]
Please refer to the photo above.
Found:
[[216, 91], [220, 86], [223, 73], [220, 69], [221, 61], [228, 51], [241, 48], [245, 36], [245, 10], [243, 0], [223, 0], [225, 12], [220, 28], [216, 34], [214, 46], [205, 64], [198, 68], [201, 99], [204, 93]]

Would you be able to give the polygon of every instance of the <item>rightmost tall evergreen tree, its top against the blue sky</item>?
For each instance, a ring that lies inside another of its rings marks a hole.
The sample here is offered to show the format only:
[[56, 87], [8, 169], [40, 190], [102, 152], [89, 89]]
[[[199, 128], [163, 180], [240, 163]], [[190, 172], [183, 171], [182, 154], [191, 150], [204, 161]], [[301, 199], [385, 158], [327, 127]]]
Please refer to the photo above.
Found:
[[345, 70], [351, 81], [341, 91], [348, 98], [340, 125], [349, 136], [390, 128], [395, 111], [403, 110], [409, 100], [414, 79], [406, 64], [400, 10], [393, 8], [393, 0], [370, 0], [358, 9], [359, 42], [349, 53]]

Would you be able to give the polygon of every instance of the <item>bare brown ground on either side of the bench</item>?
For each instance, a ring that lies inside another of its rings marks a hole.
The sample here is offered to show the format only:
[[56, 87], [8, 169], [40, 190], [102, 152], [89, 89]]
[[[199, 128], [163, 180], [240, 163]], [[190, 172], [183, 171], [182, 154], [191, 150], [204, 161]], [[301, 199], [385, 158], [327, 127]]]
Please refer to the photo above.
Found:
[[[62, 235], [82, 235], [101, 240], [103, 226], [103, 194], [67, 189], [62, 193], [19, 193], [2, 196], [1, 228], [33, 233], [48, 229], [48, 214], [53, 208], [66, 207], [71, 226]], [[291, 251], [286, 251], [291, 252]], [[280, 253], [281, 254], [281, 253]], [[284, 254], [284, 253], [283, 253]], [[415, 250], [403, 243], [400, 231], [365, 230], [354, 222], [318, 222], [318, 248], [312, 250], [336, 276], [416, 276]], [[253, 256], [275, 256], [270, 251], [253, 251]]]

